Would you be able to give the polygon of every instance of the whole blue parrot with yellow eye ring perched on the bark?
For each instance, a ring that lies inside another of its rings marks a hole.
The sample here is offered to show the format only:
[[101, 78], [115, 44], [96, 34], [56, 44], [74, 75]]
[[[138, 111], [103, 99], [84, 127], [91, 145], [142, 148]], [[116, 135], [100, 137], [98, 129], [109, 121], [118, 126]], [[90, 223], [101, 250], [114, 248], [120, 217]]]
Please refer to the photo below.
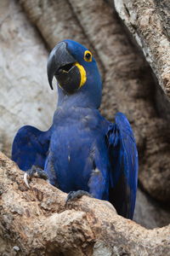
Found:
[[28, 173], [43, 170], [51, 184], [69, 193], [67, 200], [89, 194], [110, 201], [118, 214], [132, 219], [136, 143], [123, 113], [116, 113], [114, 124], [99, 113], [102, 82], [94, 56], [82, 44], [61, 41], [48, 57], [51, 89], [54, 77], [59, 99], [52, 126], [48, 131], [21, 127], [12, 160]]

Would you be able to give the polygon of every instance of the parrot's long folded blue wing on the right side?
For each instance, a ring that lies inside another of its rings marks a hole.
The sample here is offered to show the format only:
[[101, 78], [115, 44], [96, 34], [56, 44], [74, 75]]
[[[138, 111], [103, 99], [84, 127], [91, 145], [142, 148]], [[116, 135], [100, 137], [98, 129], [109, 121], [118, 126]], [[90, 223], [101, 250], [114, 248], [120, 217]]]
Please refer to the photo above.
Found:
[[118, 214], [133, 218], [138, 183], [138, 152], [132, 128], [123, 113], [116, 113], [115, 124], [107, 133], [111, 161], [111, 203]]

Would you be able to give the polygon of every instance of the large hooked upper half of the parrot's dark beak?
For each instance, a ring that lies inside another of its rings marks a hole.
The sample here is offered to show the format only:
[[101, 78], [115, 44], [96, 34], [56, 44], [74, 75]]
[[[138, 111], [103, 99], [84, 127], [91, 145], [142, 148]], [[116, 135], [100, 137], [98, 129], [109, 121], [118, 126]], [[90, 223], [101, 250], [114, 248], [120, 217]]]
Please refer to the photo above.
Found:
[[54, 75], [57, 79], [63, 79], [62, 74], [68, 73], [75, 62], [76, 60], [66, 49], [65, 42], [61, 42], [54, 47], [48, 57], [48, 82], [52, 90]]

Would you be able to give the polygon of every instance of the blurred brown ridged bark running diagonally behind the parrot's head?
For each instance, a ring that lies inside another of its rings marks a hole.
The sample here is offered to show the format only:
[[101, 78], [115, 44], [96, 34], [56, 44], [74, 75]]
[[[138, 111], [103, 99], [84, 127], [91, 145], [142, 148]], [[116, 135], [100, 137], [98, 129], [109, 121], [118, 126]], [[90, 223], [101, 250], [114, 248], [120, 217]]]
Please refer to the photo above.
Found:
[[72, 38], [95, 50], [105, 74], [102, 113], [109, 119], [113, 119], [116, 111], [127, 114], [139, 147], [140, 183], [156, 199], [169, 201], [168, 121], [157, 111], [157, 87], [150, 68], [122, 31], [111, 3], [102, 0], [21, 0], [20, 3], [50, 47], [64, 38]]

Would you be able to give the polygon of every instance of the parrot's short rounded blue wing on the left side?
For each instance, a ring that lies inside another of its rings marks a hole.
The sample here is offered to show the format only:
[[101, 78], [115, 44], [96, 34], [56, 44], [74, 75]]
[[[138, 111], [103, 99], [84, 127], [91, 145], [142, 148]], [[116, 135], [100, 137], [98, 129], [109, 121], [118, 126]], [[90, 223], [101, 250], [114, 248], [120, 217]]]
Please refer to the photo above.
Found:
[[31, 166], [43, 169], [48, 154], [51, 130], [39, 131], [33, 126], [23, 126], [14, 137], [12, 160], [21, 170], [26, 171]]

